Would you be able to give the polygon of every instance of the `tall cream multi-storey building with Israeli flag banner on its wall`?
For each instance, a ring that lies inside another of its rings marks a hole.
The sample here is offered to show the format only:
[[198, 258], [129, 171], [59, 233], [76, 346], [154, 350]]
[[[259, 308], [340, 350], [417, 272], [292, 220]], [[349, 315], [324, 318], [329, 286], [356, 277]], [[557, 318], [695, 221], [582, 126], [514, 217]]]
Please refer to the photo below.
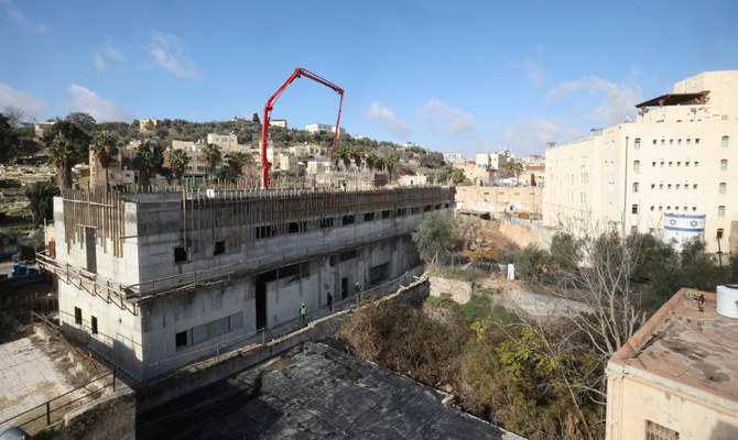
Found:
[[664, 213], [706, 216], [710, 252], [738, 252], [738, 70], [706, 72], [637, 105], [633, 123], [546, 150], [544, 223], [661, 235]]

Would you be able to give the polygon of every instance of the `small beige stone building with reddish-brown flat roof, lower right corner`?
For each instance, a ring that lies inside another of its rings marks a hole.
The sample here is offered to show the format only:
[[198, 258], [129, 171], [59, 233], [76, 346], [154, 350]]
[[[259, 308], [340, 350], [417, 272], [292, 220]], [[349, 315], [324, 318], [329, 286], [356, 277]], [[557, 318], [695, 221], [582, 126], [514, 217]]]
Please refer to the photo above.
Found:
[[718, 312], [719, 288], [683, 288], [610, 358], [608, 440], [738, 438], [738, 315]]

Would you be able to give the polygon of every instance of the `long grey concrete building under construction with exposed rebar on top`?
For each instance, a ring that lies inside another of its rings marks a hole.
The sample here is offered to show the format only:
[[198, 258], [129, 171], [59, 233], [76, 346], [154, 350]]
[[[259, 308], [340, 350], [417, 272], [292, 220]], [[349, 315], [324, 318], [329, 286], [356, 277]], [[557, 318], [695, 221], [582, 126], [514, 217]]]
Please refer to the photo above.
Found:
[[54, 201], [59, 319], [138, 381], [419, 263], [410, 238], [454, 188], [65, 190]]

